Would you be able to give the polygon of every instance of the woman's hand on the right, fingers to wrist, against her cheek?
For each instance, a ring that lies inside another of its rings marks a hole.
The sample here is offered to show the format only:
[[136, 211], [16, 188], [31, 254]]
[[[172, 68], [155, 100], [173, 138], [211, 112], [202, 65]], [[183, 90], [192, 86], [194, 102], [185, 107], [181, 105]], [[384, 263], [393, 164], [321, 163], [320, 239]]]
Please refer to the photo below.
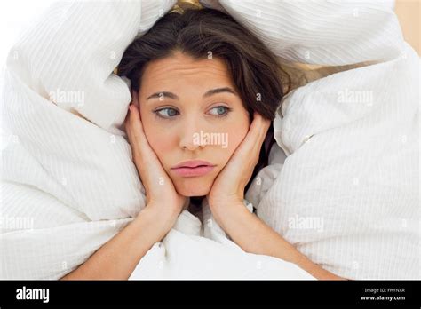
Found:
[[206, 196], [212, 212], [227, 205], [242, 203], [244, 188], [258, 163], [260, 148], [270, 125], [270, 120], [257, 112], [254, 113], [249, 132], [235, 149], [224, 169], [219, 172], [210, 193]]

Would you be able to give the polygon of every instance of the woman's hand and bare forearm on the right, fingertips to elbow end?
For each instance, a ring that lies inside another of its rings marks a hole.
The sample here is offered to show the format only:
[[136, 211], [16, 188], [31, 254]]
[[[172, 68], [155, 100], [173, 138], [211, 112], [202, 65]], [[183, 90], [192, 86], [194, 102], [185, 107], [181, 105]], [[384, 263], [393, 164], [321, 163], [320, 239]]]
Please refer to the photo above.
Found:
[[345, 280], [316, 265], [271, 227], [243, 206], [244, 188], [258, 163], [260, 147], [271, 124], [254, 114], [250, 130], [235, 149], [225, 168], [213, 182], [206, 196], [213, 217], [233, 242], [245, 252], [282, 258], [294, 263], [316, 279]]

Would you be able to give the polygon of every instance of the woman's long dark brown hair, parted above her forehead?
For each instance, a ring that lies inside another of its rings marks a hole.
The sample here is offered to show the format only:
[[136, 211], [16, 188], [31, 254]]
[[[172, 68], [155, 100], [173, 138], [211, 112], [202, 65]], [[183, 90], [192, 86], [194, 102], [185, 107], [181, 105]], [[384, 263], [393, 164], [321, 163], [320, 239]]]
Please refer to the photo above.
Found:
[[[118, 66], [118, 75], [129, 78], [131, 88], [139, 91], [146, 64], [170, 57], [174, 52], [184, 52], [194, 59], [206, 59], [209, 55], [223, 59], [250, 121], [254, 111], [274, 120], [283, 97], [282, 68], [274, 53], [231, 16], [213, 9], [187, 9], [164, 15], [128, 46]], [[268, 164], [268, 152], [273, 144], [271, 126], [251, 179]], [[245, 191], [249, 186], [250, 182]]]

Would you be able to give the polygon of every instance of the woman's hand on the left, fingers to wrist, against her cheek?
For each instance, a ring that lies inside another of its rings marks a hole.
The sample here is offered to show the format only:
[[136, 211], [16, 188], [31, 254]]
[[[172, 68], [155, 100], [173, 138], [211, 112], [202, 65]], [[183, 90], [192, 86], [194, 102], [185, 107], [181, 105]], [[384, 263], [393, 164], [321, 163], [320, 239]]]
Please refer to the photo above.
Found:
[[160, 218], [171, 228], [187, 202], [187, 197], [176, 191], [171, 178], [163, 170], [155, 151], [147, 141], [139, 113], [138, 93], [132, 91], [131, 98], [125, 129], [131, 144], [133, 162], [145, 186], [147, 209], [157, 210]]

